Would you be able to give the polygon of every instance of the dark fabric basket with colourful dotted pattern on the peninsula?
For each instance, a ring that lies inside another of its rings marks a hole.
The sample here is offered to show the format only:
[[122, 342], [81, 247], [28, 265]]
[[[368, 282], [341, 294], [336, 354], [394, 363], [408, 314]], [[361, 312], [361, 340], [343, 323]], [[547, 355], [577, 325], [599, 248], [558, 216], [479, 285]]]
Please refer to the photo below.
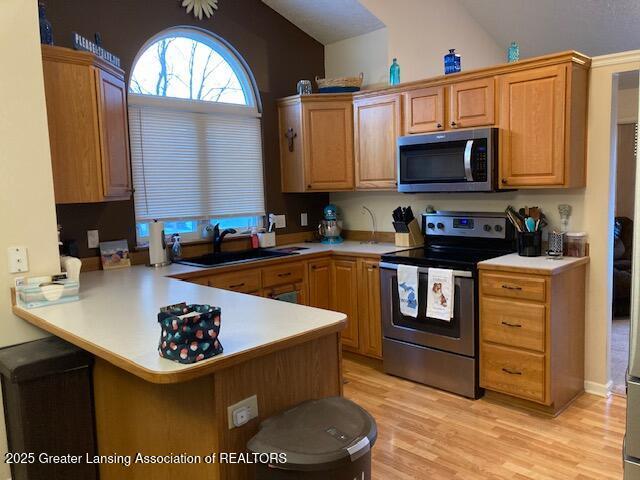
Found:
[[158, 314], [162, 327], [158, 353], [180, 363], [195, 363], [222, 353], [220, 314], [220, 308], [210, 305], [163, 308]]

